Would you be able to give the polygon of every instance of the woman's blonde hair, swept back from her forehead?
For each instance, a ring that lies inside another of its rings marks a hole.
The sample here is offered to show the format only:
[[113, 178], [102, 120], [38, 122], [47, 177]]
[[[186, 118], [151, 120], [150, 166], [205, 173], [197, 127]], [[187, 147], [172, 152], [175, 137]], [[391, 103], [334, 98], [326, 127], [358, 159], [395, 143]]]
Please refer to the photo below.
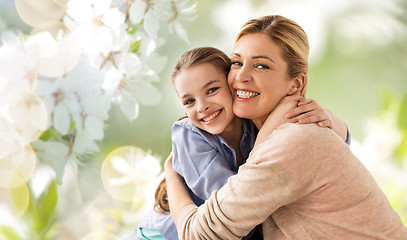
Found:
[[[293, 20], [279, 15], [268, 15], [247, 21], [238, 33], [235, 43], [251, 33], [267, 34], [282, 49], [282, 56], [288, 64], [290, 78], [297, 77], [300, 73], [308, 72], [309, 44], [305, 31]], [[301, 90], [305, 96], [307, 82]]]

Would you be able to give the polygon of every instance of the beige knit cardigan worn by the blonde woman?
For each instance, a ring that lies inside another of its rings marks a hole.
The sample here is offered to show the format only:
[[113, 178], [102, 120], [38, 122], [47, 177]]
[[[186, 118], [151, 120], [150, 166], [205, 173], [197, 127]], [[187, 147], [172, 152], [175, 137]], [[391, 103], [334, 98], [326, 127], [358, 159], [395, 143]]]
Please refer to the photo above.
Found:
[[334, 132], [284, 124], [201, 207], [185, 207], [180, 239], [407, 239], [364, 165]]

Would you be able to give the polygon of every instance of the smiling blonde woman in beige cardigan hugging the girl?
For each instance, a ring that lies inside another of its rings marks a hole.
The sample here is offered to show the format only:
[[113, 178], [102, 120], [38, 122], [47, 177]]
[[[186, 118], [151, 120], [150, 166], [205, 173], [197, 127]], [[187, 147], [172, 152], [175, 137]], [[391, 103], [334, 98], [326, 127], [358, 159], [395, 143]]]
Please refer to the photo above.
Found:
[[305, 95], [308, 50], [305, 32], [287, 18], [265, 16], [243, 26], [228, 81], [233, 111], [251, 119], [259, 136], [238, 174], [199, 208], [168, 158], [168, 197], [180, 239], [240, 239], [258, 224], [264, 239], [407, 239], [373, 177], [331, 130], [268, 125], [284, 96]]

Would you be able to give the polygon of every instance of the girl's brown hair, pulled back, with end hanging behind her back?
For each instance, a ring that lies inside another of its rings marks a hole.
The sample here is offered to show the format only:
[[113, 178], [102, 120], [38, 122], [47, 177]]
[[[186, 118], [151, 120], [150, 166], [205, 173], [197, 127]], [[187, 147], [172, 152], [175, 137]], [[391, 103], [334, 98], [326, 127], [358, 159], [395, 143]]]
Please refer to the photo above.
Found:
[[[171, 80], [174, 83], [176, 77], [182, 72], [191, 67], [203, 63], [210, 63], [215, 66], [219, 71], [227, 75], [230, 70], [230, 58], [221, 50], [213, 47], [199, 47], [185, 52], [178, 59], [174, 71], [171, 75]], [[193, 80], [193, 79], [192, 79]], [[170, 207], [168, 205], [167, 183], [165, 178], [161, 180], [155, 191], [155, 204], [154, 211], [158, 213], [168, 212]]]

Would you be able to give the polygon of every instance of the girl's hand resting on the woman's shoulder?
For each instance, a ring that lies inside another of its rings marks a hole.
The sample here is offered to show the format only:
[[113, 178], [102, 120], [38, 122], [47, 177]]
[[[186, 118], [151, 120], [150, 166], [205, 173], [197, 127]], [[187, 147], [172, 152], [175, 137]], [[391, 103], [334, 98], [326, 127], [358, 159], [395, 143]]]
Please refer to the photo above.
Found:
[[322, 107], [317, 101], [302, 98], [298, 106], [285, 114], [290, 123], [317, 123], [320, 127], [328, 127], [344, 141], [348, 137], [346, 124], [336, 117], [329, 109]]

